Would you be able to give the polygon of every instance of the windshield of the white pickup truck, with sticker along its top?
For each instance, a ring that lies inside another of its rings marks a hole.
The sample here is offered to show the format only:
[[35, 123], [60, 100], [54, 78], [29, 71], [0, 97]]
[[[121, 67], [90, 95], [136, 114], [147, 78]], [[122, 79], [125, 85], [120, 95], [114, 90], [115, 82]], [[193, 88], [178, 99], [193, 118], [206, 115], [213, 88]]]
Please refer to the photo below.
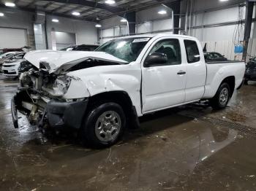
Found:
[[116, 58], [130, 63], [136, 61], [143, 47], [145, 47], [149, 40], [150, 38], [115, 39], [106, 42], [95, 51], [107, 52]]

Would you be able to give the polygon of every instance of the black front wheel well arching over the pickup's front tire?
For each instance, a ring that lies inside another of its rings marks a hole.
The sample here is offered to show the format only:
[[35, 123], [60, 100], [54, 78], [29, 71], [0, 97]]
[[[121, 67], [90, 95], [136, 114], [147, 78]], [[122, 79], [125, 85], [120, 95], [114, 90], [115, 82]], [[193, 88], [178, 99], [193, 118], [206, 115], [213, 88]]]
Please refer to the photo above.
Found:
[[135, 106], [132, 105], [132, 100], [129, 97], [128, 93], [124, 91], [113, 91], [113, 92], [106, 92], [106, 93], [99, 93], [97, 95], [91, 96], [89, 98], [89, 105], [88, 111], [95, 106], [95, 104], [103, 104], [106, 101], [114, 102], [119, 104], [124, 113], [129, 118], [129, 120], [137, 120], [138, 114], [136, 112]]

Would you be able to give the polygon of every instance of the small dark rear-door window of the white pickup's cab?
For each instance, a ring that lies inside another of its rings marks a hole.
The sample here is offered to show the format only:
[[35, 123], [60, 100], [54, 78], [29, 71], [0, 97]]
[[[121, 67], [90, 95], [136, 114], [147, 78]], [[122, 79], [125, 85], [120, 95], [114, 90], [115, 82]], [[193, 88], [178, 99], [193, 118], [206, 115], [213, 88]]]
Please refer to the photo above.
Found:
[[184, 40], [186, 53], [187, 53], [187, 62], [195, 63], [200, 61], [200, 53], [197, 47], [197, 43], [192, 40]]

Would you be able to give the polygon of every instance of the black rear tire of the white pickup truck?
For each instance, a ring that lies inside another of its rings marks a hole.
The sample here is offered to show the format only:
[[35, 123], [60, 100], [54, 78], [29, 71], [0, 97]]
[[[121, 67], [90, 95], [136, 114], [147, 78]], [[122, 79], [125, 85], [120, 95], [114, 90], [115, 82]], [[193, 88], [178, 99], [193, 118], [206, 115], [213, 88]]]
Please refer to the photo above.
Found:
[[[223, 101], [221, 98], [222, 91], [227, 90], [227, 100]], [[217, 93], [214, 95], [214, 98], [211, 98], [210, 104], [214, 109], [225, 109], [225, 107], [228, 104], [228, 101], [230, 100], [230, 86], [224, 82], [219, 86], [219, 89], [217, 90]]]

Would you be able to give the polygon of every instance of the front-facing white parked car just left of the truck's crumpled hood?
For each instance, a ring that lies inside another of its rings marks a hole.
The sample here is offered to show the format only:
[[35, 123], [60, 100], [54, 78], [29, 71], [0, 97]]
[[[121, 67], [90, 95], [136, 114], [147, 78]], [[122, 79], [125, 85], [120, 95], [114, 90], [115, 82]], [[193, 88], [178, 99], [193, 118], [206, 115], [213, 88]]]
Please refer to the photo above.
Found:
[[5, 77], [18, 77], [18, 67], [24, 60], [7, 61], [2, 66], [2, 73]]

